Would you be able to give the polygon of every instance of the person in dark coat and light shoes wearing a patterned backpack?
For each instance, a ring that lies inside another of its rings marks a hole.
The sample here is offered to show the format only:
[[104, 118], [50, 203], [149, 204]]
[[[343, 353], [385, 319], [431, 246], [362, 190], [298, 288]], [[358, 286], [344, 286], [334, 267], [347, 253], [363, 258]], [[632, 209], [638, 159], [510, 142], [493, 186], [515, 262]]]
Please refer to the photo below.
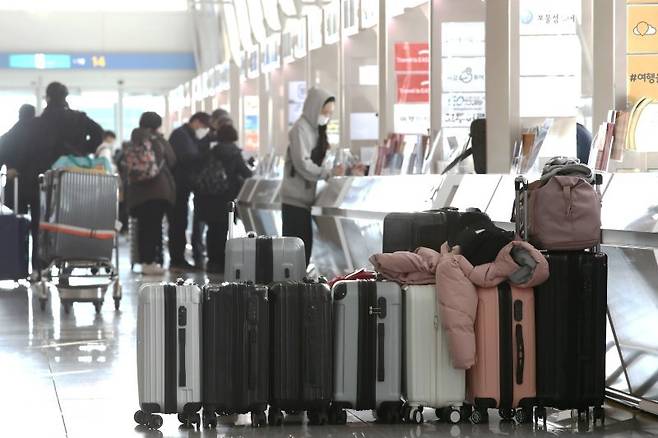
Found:
[[137, 244], [144, 275], [162, 275], [158, 265], [158, 250], [162, 244], [162, 219], [176, 202], [176, 183], [171, 173], [176, 155], [160, 133], [162, 118], [154, 112], [142, 114], [139, 128], [133, 130], [131, 143], [150, 142], [155, 151], [160, 173], [147, 181], [128, 181], [127, 203], [130, 214], [137, 218]]

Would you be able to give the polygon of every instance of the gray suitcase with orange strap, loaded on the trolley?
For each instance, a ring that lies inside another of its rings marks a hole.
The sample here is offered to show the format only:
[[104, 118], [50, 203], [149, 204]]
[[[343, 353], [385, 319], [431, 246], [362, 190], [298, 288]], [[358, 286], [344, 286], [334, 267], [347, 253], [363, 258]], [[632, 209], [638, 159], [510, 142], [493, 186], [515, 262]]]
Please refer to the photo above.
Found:
[[[109, 261], [116, 232], [119, 181], [114, 175], [49, 170], [41, 181], [39, 254], [53, 260]], [[69, 232], [53, 231], [65, 227]], [[70, 231], [79, 231], [78, 235]], [[81, 233], [88, 233], [83, 236]]]

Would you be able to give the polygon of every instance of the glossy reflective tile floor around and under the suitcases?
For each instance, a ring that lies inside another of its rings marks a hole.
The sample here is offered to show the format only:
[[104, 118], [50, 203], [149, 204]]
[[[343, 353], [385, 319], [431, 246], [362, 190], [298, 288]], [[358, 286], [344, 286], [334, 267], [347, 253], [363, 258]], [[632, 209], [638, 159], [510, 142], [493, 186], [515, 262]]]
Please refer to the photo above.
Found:
[[138, 407], [136, 292], [142, 281], [159, 279], [130, 273], [127, 257], [121, 270], [124, 298], [119, 312], [107, 299], [99, 315], [85, 303], [75, 304], [65, 315], [56, 293], [41, 312], [25, 287], [0, 290], [0, 437], [658, 436], [658, 417], [612, 405], [606, 406], [605, 426], [597, 428], [579, 428], [569, 412], [551, 415], [547, 430], [501, 423], [495, 414], [488, 425], [449, 426], [437, 424], [426, 410], [427, 422], [421, 426], [377, 425], [369, 413], [353, 413], [342, 427], [288, 424], [252, 429], [241, 417], [234, 427], [198, 431], [181, 429], [175, 416], [165, 416], [160, 431], [140, 429], [133, 422]]

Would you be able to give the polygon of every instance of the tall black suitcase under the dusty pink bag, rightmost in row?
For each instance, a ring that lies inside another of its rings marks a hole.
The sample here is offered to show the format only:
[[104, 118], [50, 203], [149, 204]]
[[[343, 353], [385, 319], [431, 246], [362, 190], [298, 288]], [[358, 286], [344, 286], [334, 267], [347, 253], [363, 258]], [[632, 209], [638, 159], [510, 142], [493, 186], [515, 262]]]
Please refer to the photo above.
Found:
[[548, 252], [550, 278], [535, 288], [537, 398], [546, 407], [594, 407], [604, 421], [608, 257], [594, 252]]

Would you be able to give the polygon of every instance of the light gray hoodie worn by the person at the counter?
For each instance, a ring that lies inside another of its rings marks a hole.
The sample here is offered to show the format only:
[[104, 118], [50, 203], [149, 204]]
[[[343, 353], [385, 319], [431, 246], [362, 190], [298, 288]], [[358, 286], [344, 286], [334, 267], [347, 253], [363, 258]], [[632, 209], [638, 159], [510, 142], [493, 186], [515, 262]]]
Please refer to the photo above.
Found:
[[[332, 97], [320, 88], [310, 88], [302, 116], [288, 133], [290, 145], [281, 184], [281, 202], [296, 207], [311, 208], [315, 202], [317, 182], [328, 179], [331, 172], [311, 160], [311, 151], [318, 142], [318, 116], [324, 103]], [[292, 169], [295, 169], [294, 176]]]

